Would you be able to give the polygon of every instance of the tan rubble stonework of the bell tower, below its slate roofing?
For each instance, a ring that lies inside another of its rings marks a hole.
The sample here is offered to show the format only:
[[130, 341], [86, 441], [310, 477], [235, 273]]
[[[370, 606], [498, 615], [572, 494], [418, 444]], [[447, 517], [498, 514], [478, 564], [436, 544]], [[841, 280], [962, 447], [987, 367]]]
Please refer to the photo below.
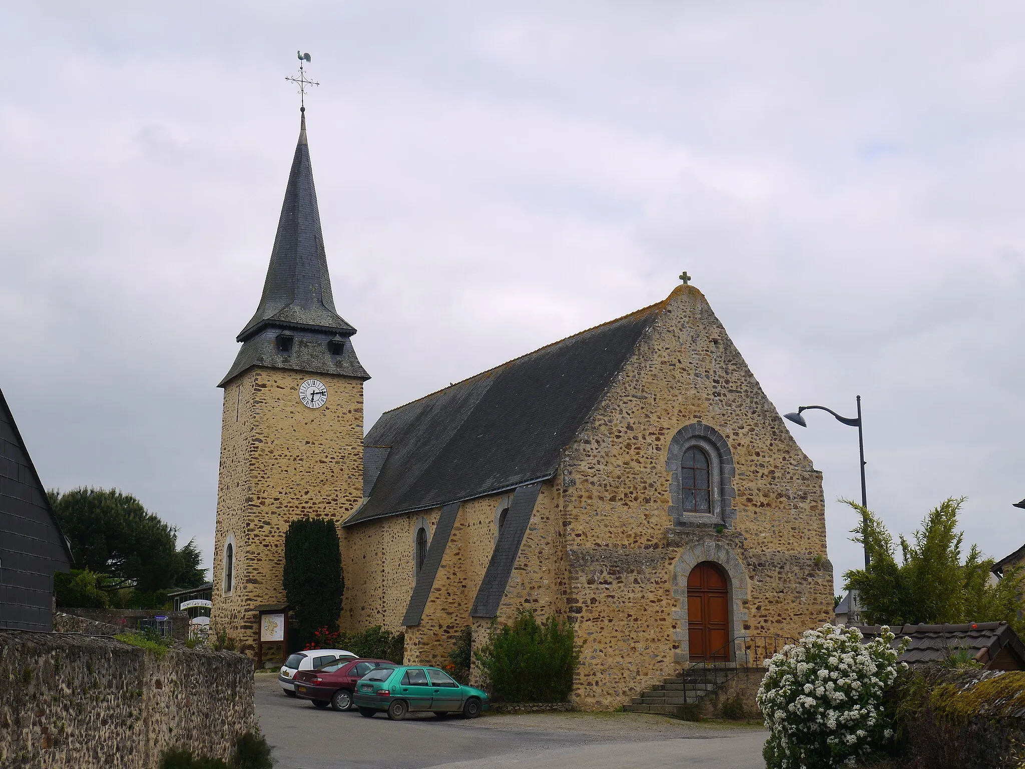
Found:
[[[311, 377], [327, 387], [327, 403], [319, 409], [299, 401], [299, 385]], [[255, 654], [253, 608], [285, 602], [288, 525], [305, 517], [340, 523], [362, 494], [362, 380], [257, 367], [228, 382], [214, 533], [213, 628], [228, 631], [242, 651]], [[229, 534], [235, 537], [235, 578], [232, 594], [225, 596]]]

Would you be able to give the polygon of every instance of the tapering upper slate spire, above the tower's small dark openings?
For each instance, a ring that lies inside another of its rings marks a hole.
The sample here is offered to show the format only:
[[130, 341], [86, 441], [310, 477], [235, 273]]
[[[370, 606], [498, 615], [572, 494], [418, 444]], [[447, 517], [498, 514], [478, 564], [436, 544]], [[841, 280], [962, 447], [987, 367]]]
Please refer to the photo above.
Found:
[[239, 341], [245, 341], [269, 325], [330, 329], [343, 334], [356, 332], [338, 315], [331, 295], [331, 276], [327, 271], [306, 143], [305, 108], [301, 112], [299, 140], [288, 174], [263, 295], [252, 320], [239, 334]]

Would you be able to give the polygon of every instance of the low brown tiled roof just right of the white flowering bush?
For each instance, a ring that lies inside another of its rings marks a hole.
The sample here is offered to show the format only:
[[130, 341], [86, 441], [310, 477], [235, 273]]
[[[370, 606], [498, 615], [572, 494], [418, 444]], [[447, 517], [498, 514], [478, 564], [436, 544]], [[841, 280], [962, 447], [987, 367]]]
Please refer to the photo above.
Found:
[[[879, 625], [859, 626], [866, 640], [876, 638]], [[967, 624], [905, 624], [890, 629], [896, 638], [897, 648], [901, 639], [911, 639], [910, 645], [899, 657], [909, 665], [934, 664], [947, 659], [957, 649], [967, 649], [983, 665], [992, 662], [1001, 651], [1009, 652], [1019, 667], [1025, 667], [1025, 645], [1007, 622], [970, 622]]]

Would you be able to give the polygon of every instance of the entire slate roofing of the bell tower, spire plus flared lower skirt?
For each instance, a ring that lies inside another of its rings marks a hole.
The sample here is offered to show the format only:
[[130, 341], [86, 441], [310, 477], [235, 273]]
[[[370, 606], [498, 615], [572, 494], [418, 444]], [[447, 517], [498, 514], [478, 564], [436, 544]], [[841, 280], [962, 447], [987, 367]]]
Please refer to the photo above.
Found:
[[242, 349], [220, 387], [252, 366], [369, 379], [353, 350], [355, 333], [331, 295], [302, 108], [263, 294], [238, 335]]

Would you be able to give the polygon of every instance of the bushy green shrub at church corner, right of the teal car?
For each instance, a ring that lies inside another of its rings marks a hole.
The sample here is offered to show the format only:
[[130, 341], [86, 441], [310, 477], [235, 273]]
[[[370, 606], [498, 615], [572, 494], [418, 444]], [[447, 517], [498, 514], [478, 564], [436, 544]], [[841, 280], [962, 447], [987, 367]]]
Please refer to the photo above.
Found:
[[538, 623], [521, 611], [512, 624], [492, 623], [475, 653], [492, 695], [505, 702], [565, 702], [580, 659], [570, 622], [551, 616]]

